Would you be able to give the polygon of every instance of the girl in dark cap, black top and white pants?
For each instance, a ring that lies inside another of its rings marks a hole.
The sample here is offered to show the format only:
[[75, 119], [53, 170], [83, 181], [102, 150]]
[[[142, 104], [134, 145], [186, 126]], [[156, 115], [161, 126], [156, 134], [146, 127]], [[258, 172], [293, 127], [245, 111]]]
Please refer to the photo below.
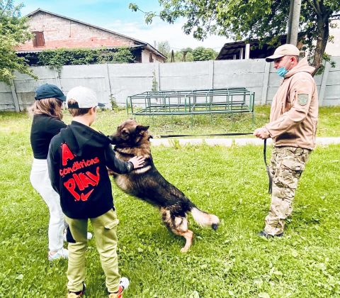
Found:
[[[47, 153], [50, 140], [67, 125], [62, 121], [62, 104], [66, 101], [62, 90], [53, 84], [43, 84], [35, 92], [35, 102], [30, 106], [33, 122], [30, 130], [30, 145], [33, 150], [33, 164], [30, 182], [44, 199], [50, 211], [48, 226], [48, 260], [67, 259], [64, 245], [64, 214], [60, 207], [60, 197], [52, 189], [47, 172]], [[91, 238], [91, 233], [88, 238]]]

